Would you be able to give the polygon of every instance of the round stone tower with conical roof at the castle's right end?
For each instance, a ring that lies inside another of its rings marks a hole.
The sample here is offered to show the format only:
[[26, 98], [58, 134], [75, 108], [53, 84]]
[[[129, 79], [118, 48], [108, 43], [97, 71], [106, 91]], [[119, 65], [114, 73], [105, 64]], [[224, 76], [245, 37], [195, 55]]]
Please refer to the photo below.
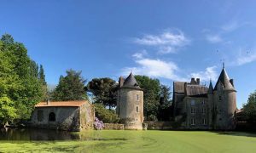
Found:
[[224, 67], [214, 88], [214, 128], [231, 130], [235, 128], [236, 89], [233, 79]]

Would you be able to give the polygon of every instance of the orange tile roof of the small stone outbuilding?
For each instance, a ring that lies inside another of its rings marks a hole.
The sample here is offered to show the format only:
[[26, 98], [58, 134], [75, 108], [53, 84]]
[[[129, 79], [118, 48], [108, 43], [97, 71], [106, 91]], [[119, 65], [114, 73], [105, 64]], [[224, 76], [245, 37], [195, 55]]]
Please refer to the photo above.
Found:
[[49, 101], [49, 105], [47, 102], [39, 102], [35, 107], [79, 107], [88, 103], [88, 101]]

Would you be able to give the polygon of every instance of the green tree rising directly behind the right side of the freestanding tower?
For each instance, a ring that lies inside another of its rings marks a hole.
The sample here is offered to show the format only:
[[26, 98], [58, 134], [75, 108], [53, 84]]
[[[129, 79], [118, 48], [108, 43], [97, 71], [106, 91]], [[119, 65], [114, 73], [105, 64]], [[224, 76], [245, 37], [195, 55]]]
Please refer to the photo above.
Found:
[[160, 81], [146, 76], [135, 76], [144, 90], [144, 116], [147, 121], [157, 120], [160, 105]]

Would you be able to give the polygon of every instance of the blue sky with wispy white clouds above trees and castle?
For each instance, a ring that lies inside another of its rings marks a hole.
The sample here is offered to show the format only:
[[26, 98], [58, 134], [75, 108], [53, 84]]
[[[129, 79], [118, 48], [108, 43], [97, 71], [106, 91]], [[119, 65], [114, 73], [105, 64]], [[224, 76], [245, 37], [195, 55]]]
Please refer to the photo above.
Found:
[[56, 84], [67, 69], [84, 78], [135, 74], [214, 81], [222, 61], [237, 105], [256, 89], [254, 1], [1, 1], [0, 34], [23, 42]]

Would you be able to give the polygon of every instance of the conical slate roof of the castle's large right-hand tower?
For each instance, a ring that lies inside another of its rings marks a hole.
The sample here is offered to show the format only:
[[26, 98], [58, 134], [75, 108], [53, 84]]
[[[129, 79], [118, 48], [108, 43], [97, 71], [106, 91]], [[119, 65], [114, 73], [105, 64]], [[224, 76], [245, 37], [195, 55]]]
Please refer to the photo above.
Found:
[[227, 72], [225, 71], [225, 69], [223, 68], [219, 77], [218, 77], [218, 81], [215, 85], [214, 90], [217, 90], [217, 86], [218, 84], [221, 83], [225, 89], [229, 89], [232, 88], [234, 89], [234, 87], [232, 86], [232, 84], [230, 83], [230, 77], [228, 76]]

